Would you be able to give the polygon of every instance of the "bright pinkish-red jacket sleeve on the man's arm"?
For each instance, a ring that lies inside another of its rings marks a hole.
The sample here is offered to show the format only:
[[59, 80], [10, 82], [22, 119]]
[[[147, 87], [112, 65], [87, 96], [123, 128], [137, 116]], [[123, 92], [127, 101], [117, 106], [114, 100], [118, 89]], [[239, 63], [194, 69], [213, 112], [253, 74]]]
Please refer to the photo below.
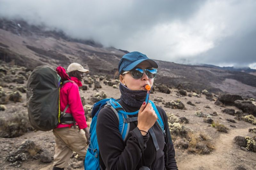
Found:
[[79, 89], [76, 83], [72, 83], [68, 91], [68, 104], [72, 116], [74, 117], [79, 129], [87, 127], [86, 119], [84, 116], [84, 107], [80, 98]]

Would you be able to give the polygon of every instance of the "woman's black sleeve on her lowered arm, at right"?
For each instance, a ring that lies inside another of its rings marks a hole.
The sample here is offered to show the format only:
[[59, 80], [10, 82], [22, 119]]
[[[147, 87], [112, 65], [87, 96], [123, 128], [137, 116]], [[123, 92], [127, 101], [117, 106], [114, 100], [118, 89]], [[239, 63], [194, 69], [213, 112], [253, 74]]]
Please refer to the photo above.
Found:
[[[175, 160], [175, 150], [174, 150], [174, 146], [173, 146], [173, 143], [172, 143], [172, 138], [171, 138], [171, 134], [170, 134], [170, 130], [169, 130], [169, 125], [168, 125], [168, 117], [164, 111], [164, 109], [162, 109], [161, 107], [159, 106], [156, 106], [157, 107], [157, 110], [159, 111], [159, 113], [161, 114], [161, 117], [163, 119], [163, 122], [164, 122], [164, 130], [166, 132], [166, 135], [165, 135], [165, 143], [167, 145], [167, 148], [168, 148], [168, 152], [167, 152], [167, 155], [168, 155], [168, 165], [165, 165], [165, 168], [166, 170], [177, 170], [178, 169], [178, 166], [177, 166], [177, 163], [176, 163], [176, 160]], [[164, 159], [167, 159], [166, 156]]]

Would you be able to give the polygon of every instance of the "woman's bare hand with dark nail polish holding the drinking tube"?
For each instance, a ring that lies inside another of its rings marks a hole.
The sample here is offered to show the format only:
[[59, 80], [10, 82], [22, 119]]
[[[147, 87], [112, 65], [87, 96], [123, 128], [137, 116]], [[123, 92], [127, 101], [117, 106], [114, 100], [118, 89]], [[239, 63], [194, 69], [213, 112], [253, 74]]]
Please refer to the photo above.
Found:
[[[156, 123], [157, 116], [151, 105], [144, 102], [138, 113], [138, 125], [137, 127], [141, 130], [142, 135], [146, 135], [148, 130]], [[144, 132], [145, 131], [145, 132]]]

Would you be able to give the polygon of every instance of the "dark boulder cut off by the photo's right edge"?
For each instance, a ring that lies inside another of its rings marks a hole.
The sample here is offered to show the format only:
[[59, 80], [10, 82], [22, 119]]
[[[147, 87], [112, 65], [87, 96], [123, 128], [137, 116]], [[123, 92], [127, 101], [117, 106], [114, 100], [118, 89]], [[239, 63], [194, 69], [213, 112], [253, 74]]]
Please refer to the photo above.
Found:
[[238, 109], [243, 110], [244, 113], [251, 114], [253, 116], [256, 116], [256, 106], [252, 104], [252, 101], [241, 101], [241, 100], [236, 100], [235, 101], [235, 106]]

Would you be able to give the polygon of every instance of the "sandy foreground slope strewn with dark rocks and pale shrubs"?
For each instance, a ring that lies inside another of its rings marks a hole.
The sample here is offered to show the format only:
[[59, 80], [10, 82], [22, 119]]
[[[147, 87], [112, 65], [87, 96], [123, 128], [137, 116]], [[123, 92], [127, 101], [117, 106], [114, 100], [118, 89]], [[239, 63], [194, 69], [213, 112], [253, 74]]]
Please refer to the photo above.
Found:
[[[26, 67], [0, 63], [0, 164], [1, 169], [51, 170], [54, 154], [52, 131], [36, 131], [28, 121]], [[119, 80], [87, 75], [80, 88], [87, 124], [92, 104], [119, 98]], [[256, 103], [238, 95], [216, 95], [170, 89], [156, 83], [150, 100], [168, 116], [180, 170], [253, 170], [256, 167]], [[73, 153], [68, 169], [83, 169]]]

